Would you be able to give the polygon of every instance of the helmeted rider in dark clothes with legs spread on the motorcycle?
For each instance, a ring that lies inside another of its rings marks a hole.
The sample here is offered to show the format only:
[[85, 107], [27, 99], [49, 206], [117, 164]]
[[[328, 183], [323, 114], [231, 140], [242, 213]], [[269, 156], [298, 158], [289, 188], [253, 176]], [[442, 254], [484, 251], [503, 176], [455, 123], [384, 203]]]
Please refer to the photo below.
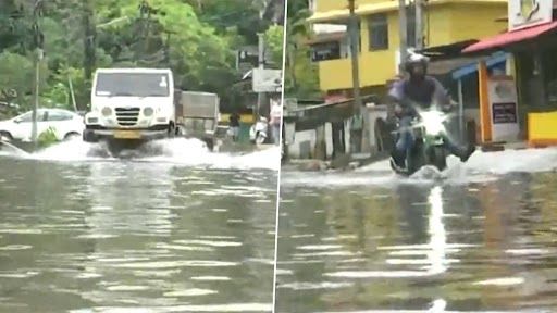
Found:
[[[395, 82], [388, 96], [395, 102], [395, 116], [399, 122], [399, 137], [392, 152], [391, 162], [398, 168], [406, 168], [406, 152], [414, 142], [412, 132], [407, 128], [411, 121], [418, 116], [418, 110], [428, 110], [432, 103], [442, 105], [444, 111], [450, 110], [451, 101], [443, 85], [432, 76], [428, 76], [429, 59], [424, 55], [409, 51], [404, 63], [408, 78]], [[417, 110], [418, 109], [418, 110]], [[459, 147], [444, 138], [445, 148], [461, 162], [468, 161], [475, 151], [475, 147]]]

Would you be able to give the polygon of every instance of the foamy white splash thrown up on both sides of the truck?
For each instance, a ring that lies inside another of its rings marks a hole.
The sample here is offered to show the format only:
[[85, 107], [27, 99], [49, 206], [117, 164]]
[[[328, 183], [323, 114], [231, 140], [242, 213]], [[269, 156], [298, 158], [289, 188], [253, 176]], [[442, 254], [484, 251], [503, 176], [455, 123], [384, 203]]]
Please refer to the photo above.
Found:
[[[273, 170], [281, 166], [278, 147], [271, 147], [255, 152], [216, 153], [211, 152], [206, 143], [197, 139], [165, 139], [149, 142], [135, 151], [124, 151], [125, 159], [134, 162], [172, 163], [193, 167], [216, 170]], [[81, 139], [64, 141], [36, 153], [12, 154], [11, 156], [39, 161], [91, 162], [116, 161], [110, 156], [103, 143], [88, 143]]]

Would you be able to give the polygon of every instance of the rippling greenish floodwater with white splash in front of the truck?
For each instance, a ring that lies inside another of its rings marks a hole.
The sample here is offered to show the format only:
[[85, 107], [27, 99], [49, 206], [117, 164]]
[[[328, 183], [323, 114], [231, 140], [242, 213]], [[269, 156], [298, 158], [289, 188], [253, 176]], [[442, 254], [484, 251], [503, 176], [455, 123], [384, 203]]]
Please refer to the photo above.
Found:
[[0, 312], [271, 312], [278, 150], [0, 156]]

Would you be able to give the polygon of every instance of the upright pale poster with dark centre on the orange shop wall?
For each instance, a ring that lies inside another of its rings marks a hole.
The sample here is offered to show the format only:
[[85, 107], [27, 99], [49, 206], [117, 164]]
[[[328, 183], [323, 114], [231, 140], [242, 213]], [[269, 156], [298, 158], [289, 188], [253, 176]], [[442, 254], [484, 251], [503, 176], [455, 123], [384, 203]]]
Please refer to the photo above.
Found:
[[487, 82], [492, 138], [494, 141], [518, 139], [518, 97], [515, 79], [509, 76], [493, 77]]

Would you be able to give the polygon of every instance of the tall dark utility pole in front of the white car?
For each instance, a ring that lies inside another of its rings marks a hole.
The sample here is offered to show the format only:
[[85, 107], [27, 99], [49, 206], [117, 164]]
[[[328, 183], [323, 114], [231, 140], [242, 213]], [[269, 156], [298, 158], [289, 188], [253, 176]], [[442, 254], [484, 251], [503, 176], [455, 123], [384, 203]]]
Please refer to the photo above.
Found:
[[42, 60], [42, 54], [44, 54], [44, 51], [42, 51], [42, 47], [44, 47], [44, 42], [45, 42], [45, 37], [42, 35], [42, 32], [40, 32], [40, 27], [39, 27], [39, 17], [40, 15], [42, 14], [42, 0], [36, 0], [35, 1], [35, 5], [33, 8], [33, 26], [32, 26], [32, 30], [33, 30], [33, 39], [34, 39], [34, 46], [35, 46], [35, 51], [36, 51], [36, 61], [35, 61], [35, 95], [34, 95], [34, 98], [35, 98], [35, 103], [33, 105], [33, 113], [32, 113], [32, 118], [33, 118], [33, 125], [32, 125], [32, 130], [30, 130], [30, 137], [32, 137], [32, 142], [35, 145], [35, 148], [38, 148], [38, 140], [37, 140], [37, 137], [38, 137], [38, 134], [37, 134], [37, 111], [38, 111], [38, 108], [39, 108], [39, 98], [40, 98], [40, 62]]

